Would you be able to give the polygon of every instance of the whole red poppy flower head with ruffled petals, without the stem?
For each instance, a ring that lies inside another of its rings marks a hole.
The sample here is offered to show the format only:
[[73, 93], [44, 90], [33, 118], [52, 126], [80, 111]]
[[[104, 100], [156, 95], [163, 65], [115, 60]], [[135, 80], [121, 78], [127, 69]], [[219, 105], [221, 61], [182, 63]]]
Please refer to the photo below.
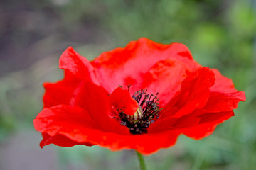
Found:
[[46, 83], [33, 120], [40, 146], [100, 145], [151, 154], [183, 134], [199, 140], [234, 115], [243, 91], [217, 69], [202, 67], [180, 43], [146, 38], [91, 62], [68, 47], [65, 77]]

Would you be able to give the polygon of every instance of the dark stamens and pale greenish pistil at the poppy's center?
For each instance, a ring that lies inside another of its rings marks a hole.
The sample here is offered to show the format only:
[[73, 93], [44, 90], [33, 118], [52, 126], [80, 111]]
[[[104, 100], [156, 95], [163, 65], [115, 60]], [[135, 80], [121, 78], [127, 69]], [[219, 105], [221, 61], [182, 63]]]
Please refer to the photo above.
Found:
[[[128, 86], [129, 89], [129, 86]], [[147, 89], [141, 89], [132, 96], [139, 103], [139, 108], [134, 115], [126, 115], [124, 112], [119, 113], [120, 124], [127, 126], [132, 134], [147, 133], [147, 128], [157, 118], [159, 118], [159, 98], [153, 94], [148, 94]]]

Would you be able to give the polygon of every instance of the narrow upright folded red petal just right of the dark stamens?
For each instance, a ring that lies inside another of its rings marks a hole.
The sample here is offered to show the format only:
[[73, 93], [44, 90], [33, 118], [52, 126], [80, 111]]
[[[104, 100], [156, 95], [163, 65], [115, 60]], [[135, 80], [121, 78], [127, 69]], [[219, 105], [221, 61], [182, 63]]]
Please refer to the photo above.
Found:
[[[197, 69], [196, 72], [188, 75], [182, 82], [181, 91], [164, 108], [164, 115], [161, 119], [172, 116], [181, 118], [184, 115], [193, 113], [195, 109], [203, 108], [210, 96], [210, 86], [215, 81], [213, 72], [208, 67]], [[179, 108], [176, 113], [170, 113], [171, 108]]]

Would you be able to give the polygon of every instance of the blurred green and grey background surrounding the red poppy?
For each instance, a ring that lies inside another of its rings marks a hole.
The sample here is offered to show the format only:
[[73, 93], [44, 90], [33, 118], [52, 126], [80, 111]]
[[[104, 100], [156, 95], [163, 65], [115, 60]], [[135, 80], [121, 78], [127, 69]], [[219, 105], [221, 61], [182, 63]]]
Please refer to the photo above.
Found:
[[197, 62], [219, 69], [247, 95], [213, 135], [179, 137], [146, 157], [148, 168], [255, 169], [254, 0], [0, 1], [0, 169], [138, 169], [132, 151], [41, 149], [33, 118], [43, 106], [43, 82], [63, 77], [58, 58], [66, 47], [92, 60], [141, 37], [187, 45]]

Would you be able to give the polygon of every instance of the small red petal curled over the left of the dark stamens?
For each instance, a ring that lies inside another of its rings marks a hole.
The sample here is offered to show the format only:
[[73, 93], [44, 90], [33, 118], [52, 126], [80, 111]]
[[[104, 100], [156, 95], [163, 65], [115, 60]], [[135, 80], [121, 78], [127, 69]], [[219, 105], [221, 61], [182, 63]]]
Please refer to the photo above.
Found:
[[132, 98], [129, 91], [120, 87], [114, 89], [110, 98], [110, 107], [116, 111], [116, 113], [124, 112], [127, 115], [134, 115], [137, 111], [139, 104]]

